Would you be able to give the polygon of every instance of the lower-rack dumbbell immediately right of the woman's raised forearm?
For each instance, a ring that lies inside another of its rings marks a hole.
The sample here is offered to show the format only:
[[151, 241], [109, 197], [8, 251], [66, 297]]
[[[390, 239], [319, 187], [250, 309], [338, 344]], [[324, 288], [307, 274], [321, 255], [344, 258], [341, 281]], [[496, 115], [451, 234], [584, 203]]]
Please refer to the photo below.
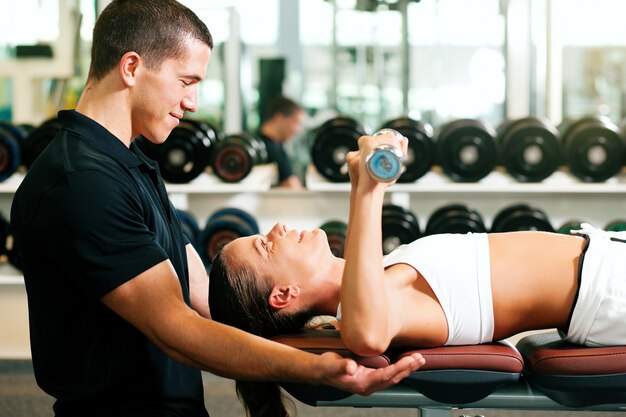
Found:
[[385, 204], [382, 210], [383, 255], [398, 246], [411, 243], [421, 236], [417, 216], [404, 207]]

